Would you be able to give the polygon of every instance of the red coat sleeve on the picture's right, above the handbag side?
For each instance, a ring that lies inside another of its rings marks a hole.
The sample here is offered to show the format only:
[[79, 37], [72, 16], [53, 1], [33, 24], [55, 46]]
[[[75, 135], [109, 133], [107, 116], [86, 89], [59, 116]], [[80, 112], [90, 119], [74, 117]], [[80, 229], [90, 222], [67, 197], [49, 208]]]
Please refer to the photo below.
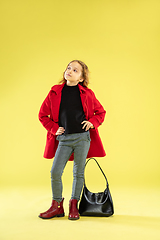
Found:
[[92, 106], [94, 110], [94, 115], [89, 118], [89, 122], [91, 122], [95, 128], [98, 128], [104, 121], [106, 111], [104, 110], [103, 106], [101, 103], [97, 100], [95, 97], [95, 94], [93, 91], [92, 93]]

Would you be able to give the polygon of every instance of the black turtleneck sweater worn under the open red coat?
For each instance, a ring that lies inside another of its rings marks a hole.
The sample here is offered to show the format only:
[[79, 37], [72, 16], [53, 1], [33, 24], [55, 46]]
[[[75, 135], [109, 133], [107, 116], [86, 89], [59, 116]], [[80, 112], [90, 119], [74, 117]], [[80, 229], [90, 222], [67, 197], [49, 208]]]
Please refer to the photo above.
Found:
[[59, 126], [64, 127], [64, 134], [82, 133], [83, 122], [86, 120], [78, 85], [64, 85], [62, 89], [61, 104], [59, 110]]

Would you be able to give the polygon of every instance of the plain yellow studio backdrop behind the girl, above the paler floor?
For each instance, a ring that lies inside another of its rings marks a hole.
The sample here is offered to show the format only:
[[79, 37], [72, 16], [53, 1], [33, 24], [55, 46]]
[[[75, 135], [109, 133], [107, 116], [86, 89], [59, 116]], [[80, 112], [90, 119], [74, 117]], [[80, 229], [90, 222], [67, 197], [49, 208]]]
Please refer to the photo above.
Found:
[[[89, 87], [107, 110], [99, 128], [107, 156], [98, 160], [110, 185], [160, 186], [159, 7], [156, 0], [1, 1], [1, 186], [50, 184], [38, 112], [73, 59], [88, 65]], [[94, 183], [97, 169], [88, 169]], [[64, 182], [71, 181], [69, 162]]]

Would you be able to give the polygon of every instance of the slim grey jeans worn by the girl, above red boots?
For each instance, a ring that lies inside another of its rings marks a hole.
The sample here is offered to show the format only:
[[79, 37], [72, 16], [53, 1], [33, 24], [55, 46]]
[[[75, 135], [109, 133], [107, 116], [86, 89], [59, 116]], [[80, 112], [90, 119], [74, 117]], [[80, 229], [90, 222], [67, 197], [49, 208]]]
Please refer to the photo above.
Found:
[[58, 135], [57, 140], [59, 144], [51, 169], [52, 197], [57, 202], [62, 201], [63, 186], [61, 177], [68, 159], [74, 152], [71, 198], [79, 201], [84, 182], [85, 162], [91, 141], [90, 133], [87, 131], [84, 133]]

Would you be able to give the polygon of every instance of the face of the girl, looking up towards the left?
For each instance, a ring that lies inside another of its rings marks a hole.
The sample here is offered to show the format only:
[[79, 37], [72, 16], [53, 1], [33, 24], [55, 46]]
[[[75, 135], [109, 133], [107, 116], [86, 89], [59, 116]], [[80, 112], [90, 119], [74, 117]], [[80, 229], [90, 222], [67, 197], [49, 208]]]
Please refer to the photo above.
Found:
[[64, 73], [64, 78], [67, 80], [68, 86], [75, 86], [79, 82], [83, 82], [82, 70], [82, 66], [78, 62], [71, 62], [68, 65]]

